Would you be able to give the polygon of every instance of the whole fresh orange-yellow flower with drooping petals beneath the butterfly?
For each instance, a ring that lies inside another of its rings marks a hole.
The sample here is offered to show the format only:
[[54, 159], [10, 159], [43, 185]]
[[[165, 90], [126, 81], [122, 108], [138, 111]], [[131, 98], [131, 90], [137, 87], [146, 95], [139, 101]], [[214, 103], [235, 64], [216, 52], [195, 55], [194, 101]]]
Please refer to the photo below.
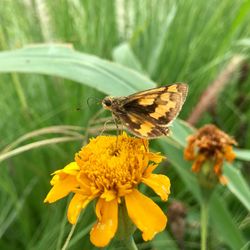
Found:
[[81, 210], [97, 198], [97, 223], [90, 232], [90, 240], [104, 247], [116, 233], [118, 205], [124, 199], [128, 215], [142, 231], [143, 239], [151, 240], [165, 228], [167, 217], [136, 188], [144, 183], [163, 201], [168, 199], [169, 178], [152, 173], [163, 158], [149, 152], [145, 139], [125, 133], [118, 137], [98, 136], [75, 155], [74, 162], [53, 173], [53, 187], [44, 202], [55, 202], [73, 192], [67, 215], [69, 222], [75, 224]]

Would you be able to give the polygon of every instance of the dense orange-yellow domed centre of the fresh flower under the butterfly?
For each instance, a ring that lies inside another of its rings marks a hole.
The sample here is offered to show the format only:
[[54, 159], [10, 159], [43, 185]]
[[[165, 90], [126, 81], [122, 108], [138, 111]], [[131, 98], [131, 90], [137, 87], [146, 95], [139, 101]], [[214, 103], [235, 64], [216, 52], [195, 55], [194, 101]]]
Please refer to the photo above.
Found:
[[149, 160], [147, 140], [125, 133], [92, 139], [75, 156], [79, 178], [87, 178], [94, 189], [108, 193], [109, 198], [110, 194], [120, 197], [131, 192], [141, 182]]

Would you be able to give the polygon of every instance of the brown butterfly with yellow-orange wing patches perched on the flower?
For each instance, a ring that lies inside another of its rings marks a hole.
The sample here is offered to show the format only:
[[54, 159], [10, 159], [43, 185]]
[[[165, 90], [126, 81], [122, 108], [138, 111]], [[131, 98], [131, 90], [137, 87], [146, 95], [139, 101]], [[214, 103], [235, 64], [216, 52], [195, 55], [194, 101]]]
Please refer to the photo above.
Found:
[[124, 97], [107, 96], [102, 106], [141, 138], [169, 135], [169, 126], [178, 116], [188, 93], [185, 83], [153, 88]]

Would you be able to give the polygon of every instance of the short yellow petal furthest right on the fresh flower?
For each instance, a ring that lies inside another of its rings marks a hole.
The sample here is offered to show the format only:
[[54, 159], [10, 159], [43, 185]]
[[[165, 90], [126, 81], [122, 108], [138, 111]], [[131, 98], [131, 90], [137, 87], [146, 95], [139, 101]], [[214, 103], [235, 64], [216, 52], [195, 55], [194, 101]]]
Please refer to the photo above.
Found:
[[168, 199], [170, 194], [170, 180], [162, 174], [151, 174], [147, 178], [142, 178], [142, 182], [151, 187], [163, 201]]

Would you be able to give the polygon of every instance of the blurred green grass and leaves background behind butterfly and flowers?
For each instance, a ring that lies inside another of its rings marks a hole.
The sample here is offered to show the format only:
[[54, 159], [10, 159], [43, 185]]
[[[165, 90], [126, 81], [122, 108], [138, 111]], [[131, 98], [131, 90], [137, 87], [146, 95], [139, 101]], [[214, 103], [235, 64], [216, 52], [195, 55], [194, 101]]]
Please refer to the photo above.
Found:
[[[61, 249], [69, 199], [43, 199], [50, 173], [87, 139], [82, 127], [102, 130], [90, 124], [101, 109], [94, 98], [173, 82], [189, 84], [181, 119], [211, 94], [194, 125], [214, 123], [242, 149], [225, 166], [230, 185], [217, 188], [211, 205], [209, 249], [250, 249], [249, 24], [247, 0], [0, 0], [0, 249]], [[169, 159], [158, 171], [171, 178], [170, 201], [145, 192], [166, 212], [175, 200], [184, 204], [185, 249], [200, 249], [199, 187], [182, 157], [190, 130], [178, 120], [170, 140], [152, 142]], [[69, 249], [95, 249], [93, 206]], [[135, 240], [139, 249], [178, 249], [170, 226], [151, 242], [138, 232]]]

